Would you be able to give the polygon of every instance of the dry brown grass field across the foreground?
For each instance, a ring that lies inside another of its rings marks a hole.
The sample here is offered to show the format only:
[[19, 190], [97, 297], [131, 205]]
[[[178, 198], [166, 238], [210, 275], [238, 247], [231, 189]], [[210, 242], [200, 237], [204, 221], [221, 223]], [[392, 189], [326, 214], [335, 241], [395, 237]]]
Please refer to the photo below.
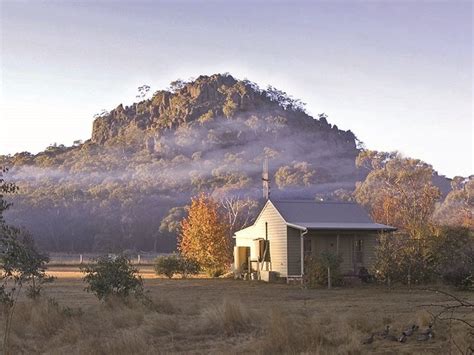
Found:
[[[371, 333], [390, 325], [394, 335], [430, 322], [426, 304], [448, 301], [423, 290], [357, 287], [306, 290], [295, 285], [230, 279], [163, 279], [142, 270], [157, 307], [139, 302], [105, 305], [84, 291], [77, 269], [55, 268], [57, 280], [41, 301], [22, 299], [11, 335], [13, 353], [314, 353], [449, 354], [473, 342], [466, 328], [436, 323], [434, 339], [406, 343]], [[455, 293], [473, 299], [469, 293]], [[471, 314], [465, 314], [468, 318]], [[0, 332], [3, 330], [0, 330]]]

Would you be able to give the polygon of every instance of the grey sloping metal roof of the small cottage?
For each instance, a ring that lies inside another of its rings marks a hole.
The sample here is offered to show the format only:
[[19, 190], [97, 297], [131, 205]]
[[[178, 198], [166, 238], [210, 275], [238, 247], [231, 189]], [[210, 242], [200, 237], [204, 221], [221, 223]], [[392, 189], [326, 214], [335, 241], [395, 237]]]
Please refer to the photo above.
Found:
[[395, 230], [374, 223], [362, 206], [350, 202], [272, 201], [283, 219], [307, 229]]

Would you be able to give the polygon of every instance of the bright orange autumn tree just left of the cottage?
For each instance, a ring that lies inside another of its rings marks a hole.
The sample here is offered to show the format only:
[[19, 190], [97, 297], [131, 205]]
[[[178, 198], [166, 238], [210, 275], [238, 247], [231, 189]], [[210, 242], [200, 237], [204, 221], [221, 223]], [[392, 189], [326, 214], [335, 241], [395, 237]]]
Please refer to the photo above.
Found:
[[188, 217], [181, 222], [178, 248], [210, 275], [228, 268], [232, 261], [229, 226], [211, 197], [201, 194], [192, 199]]

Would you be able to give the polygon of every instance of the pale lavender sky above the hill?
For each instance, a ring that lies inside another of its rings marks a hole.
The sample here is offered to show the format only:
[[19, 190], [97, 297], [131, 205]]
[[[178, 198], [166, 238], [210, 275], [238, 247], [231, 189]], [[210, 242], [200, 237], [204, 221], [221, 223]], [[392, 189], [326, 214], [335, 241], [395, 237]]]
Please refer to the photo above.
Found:
[[0, 154], [88, 139], [142, 84], [229, 72], [370, 149], [474, 173], [470, 1], [0, 3]]

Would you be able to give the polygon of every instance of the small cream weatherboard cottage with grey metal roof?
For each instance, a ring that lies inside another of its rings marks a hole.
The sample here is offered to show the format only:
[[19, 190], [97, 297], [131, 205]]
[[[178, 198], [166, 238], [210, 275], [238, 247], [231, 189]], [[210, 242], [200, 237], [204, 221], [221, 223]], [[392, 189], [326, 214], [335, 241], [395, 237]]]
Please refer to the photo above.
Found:
[[331, 251], [344, 274], [357, 275], [374, 261], [377, 234], [394, 230], [356, 203], [268, 200], [252, 226], [235, 232], [234, 267], [266, 281], [302, 278], [305, 256]]

